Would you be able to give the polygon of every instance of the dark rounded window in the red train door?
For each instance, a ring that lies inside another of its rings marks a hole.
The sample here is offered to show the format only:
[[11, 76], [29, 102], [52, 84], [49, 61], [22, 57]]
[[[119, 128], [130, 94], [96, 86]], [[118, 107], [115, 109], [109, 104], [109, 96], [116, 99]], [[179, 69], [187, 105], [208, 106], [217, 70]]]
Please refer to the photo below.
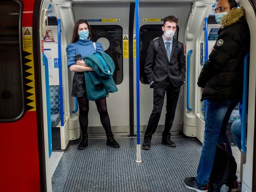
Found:
[[0, 2], [0, 122], [24, 113], [21, 16], [19, 1]]

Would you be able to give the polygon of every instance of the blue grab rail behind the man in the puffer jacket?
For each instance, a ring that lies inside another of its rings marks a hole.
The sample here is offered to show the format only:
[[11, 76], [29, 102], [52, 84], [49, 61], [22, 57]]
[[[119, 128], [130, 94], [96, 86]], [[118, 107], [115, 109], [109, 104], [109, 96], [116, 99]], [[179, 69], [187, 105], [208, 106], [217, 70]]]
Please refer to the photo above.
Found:
[[243, 108], [242, 108], [242, 119], [241, 119], [241, 148], [243, 152], [246, 154], [247, 147], [245, 145], [246, 140], [246, 112], [247, 112], [247, 76], [248, 76], [248, 58], [250, 53], [247, 53], [244, 59], [243, 65]]

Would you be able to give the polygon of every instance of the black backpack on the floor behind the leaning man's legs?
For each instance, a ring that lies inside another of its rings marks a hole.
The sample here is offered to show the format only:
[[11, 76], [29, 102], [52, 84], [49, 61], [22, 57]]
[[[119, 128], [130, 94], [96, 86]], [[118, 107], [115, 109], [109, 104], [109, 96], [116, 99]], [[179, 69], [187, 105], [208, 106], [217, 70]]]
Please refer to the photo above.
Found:
[[228, 153], [227, 144], [217, 145], [208, 192], [230, 192], [236, 169], [235, 158]]

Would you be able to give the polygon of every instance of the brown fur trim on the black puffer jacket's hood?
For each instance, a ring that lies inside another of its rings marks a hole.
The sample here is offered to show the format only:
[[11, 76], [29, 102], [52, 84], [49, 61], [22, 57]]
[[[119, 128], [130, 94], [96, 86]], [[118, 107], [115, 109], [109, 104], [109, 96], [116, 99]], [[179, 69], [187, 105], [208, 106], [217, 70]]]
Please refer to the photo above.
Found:
[[245, 15], [245, 9], [243, 7], [236, 8], [236, 9], [231, 9], [228, 12], [228, 14], [226, 14], [222, 17], [222, 19], [221, 19], [221, 28], [223, 29], [226, 26], [230, 26], [230, 25], [236, 23], [244, 15]]

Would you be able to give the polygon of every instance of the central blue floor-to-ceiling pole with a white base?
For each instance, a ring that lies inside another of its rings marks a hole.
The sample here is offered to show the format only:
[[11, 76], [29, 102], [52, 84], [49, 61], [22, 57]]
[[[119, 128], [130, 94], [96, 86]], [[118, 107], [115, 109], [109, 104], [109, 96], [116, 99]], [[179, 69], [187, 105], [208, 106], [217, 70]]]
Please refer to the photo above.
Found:
[[[141, 163], [140, 155], [140, 28], [139, 28], [139, 0], [135, 1], [136, 10], [136, 113], [137, 113], [137, 147], [136, 161]], [[131, 38], [131, 37], [130, 37]]]

